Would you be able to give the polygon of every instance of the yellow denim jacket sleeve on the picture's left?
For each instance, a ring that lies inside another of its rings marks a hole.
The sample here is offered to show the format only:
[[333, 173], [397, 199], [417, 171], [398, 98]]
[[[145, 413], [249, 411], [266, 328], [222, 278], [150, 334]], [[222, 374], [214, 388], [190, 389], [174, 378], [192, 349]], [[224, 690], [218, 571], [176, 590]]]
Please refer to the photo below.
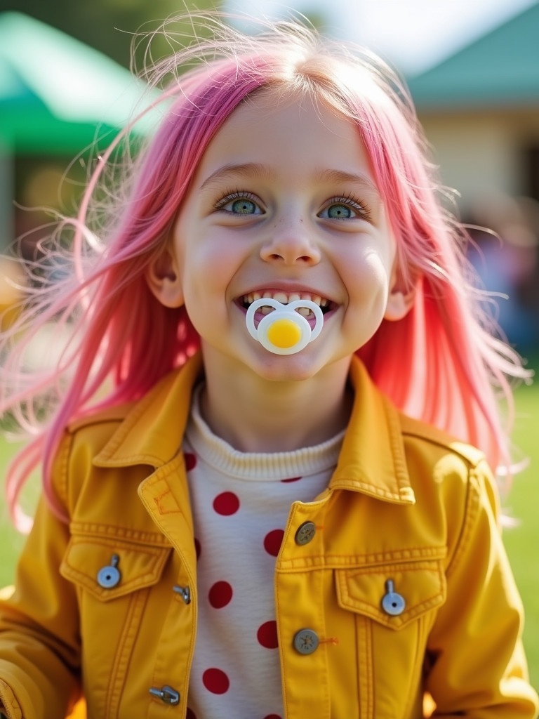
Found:
[[68, 536], [40, 500], [14, 590], [0, 600], [0, 707], [10, 717], [64, 719], [78, 695], [78, 603], [59, 572]]

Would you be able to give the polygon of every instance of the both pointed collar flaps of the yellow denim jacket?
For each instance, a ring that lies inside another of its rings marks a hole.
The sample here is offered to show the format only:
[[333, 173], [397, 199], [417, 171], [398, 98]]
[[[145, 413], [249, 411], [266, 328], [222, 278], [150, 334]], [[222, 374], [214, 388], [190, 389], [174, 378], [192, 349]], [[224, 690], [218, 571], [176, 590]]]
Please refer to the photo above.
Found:
[[[94, 459], [98, 467], [149, 464], [161, 467], [178, 454], [193, 385], [202, 373], [200, 354], [157, 383], [127, 414]], [[350, 381], [355, 398], [330, 490], [361, 492], [392, 503], [413, 504], [399, 413], [354, 357]]]

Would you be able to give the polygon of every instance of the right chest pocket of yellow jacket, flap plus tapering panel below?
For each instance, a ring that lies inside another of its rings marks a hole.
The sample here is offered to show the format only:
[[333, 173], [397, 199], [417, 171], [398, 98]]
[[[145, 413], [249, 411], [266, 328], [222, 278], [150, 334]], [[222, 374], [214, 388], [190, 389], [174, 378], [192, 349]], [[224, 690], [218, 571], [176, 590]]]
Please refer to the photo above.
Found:
[[336, 592], [354, 616], [361, 719], [423, 716], [428, 634], [446, 601], [442, 559], [338, 569]]

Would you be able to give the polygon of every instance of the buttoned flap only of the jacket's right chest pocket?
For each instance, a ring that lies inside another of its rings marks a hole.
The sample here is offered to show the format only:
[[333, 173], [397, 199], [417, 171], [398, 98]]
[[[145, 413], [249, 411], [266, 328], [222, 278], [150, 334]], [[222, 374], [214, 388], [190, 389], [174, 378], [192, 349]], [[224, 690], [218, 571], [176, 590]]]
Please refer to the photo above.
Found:
[[[336, 587], [342, 608], [393, 629], [406, 626], [446, 599], [443, 564], [436, 560], [338, 569]], [[389, 592], [397, 595], [395, 613], [387, 611]]]

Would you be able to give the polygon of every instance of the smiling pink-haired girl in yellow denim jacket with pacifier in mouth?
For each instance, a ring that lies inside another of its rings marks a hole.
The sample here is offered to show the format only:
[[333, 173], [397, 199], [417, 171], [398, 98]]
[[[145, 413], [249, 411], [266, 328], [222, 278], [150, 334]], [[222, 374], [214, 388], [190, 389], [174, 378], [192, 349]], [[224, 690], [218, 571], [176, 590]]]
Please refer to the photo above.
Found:
[[[1, 605], [4, 715], [533, 717], [489, 470], [525, 372], [410, 99], [298, 24], [213, 24], [92, 224], [100, 158], [73, 273], [4, 335], [3, 408], [36, 435], [13, 512], [37, 462], [45, 490]], [[51, 319], [72, 339], [25, 372]]]

